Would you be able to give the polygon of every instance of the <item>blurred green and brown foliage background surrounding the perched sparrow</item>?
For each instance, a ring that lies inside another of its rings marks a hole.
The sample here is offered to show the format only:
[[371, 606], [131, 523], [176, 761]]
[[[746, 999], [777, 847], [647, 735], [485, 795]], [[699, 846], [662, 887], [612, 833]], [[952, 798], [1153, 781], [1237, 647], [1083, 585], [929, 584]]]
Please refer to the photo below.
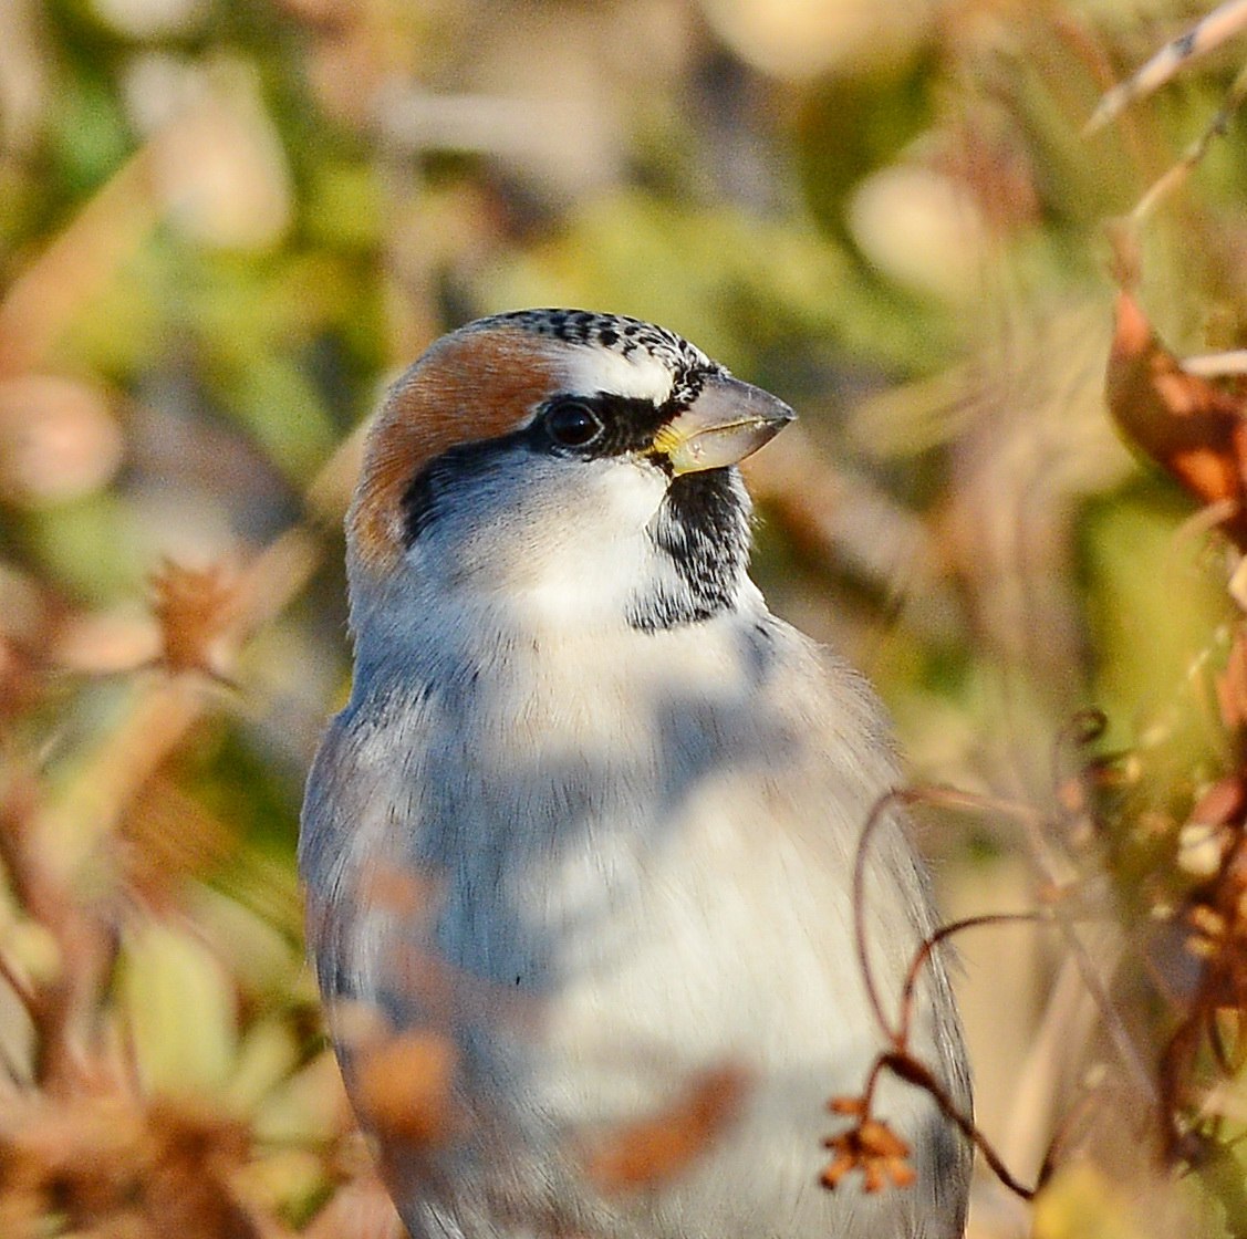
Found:
[[[1105, 395], [1121, 285], [1205, 373], [1247, 337], [1235, 14], [1084, 128], [1206, 11], [0, 5], [0, 1234], [399, 1233], [303, 965], [302, 780], [359, 428], [524, 305], [798, 409], [756, 576], [959, 789], [917, 810], [945, 915], [1042, 910], [960, 939], [979, 1124], [1044, 1179], [984, 1173], [971, 1233], [1247, 1233], [1245, 591]], [[1238, 381], [1198, 393], [1236, 421]]]

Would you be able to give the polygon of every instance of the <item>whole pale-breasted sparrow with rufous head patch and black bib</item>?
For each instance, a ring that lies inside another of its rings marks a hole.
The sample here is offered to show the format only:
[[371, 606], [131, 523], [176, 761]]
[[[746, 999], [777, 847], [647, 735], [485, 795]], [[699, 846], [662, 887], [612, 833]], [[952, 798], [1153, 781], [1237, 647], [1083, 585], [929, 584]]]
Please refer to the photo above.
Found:
[[[969, 1150], [897, 1081], [875, 1111], [917, 1182], [819, 1185], [827, 1097], [883, 1046], [850, 887], [898, 773], [862, 677], [747, 576], [736, 465], [792, 416], [663, 328], [577, 310], [470, 323], [384, 401], [301, 866], [415, 1239], [963, 1233]], [[898, 814], [867, 874], [899, 991], [935, 921]], [[940, 959], [912, 1047], [968, 1108]]]

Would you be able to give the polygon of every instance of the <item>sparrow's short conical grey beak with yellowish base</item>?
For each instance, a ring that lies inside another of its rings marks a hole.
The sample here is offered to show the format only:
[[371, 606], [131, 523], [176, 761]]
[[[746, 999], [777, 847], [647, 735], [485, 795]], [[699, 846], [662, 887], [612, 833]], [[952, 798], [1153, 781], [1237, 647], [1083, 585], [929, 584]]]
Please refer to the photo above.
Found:
[[653, 450], [671, 461], [677, 476], [721, 469], [744, 460], [796, 416], [771, 393], [716, 374], [687, 409], [658, 430]]

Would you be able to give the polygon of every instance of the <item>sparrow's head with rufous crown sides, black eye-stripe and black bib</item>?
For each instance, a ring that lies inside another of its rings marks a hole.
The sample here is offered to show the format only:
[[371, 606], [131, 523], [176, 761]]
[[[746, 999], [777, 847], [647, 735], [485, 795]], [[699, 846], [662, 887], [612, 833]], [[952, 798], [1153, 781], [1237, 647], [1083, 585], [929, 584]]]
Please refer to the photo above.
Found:
[[390, 389], [347, 519], [357, 632], [420, 598], [652, 631], [733, 606], [737, 461], [793, 414], [637, 319], [469, 323]]

